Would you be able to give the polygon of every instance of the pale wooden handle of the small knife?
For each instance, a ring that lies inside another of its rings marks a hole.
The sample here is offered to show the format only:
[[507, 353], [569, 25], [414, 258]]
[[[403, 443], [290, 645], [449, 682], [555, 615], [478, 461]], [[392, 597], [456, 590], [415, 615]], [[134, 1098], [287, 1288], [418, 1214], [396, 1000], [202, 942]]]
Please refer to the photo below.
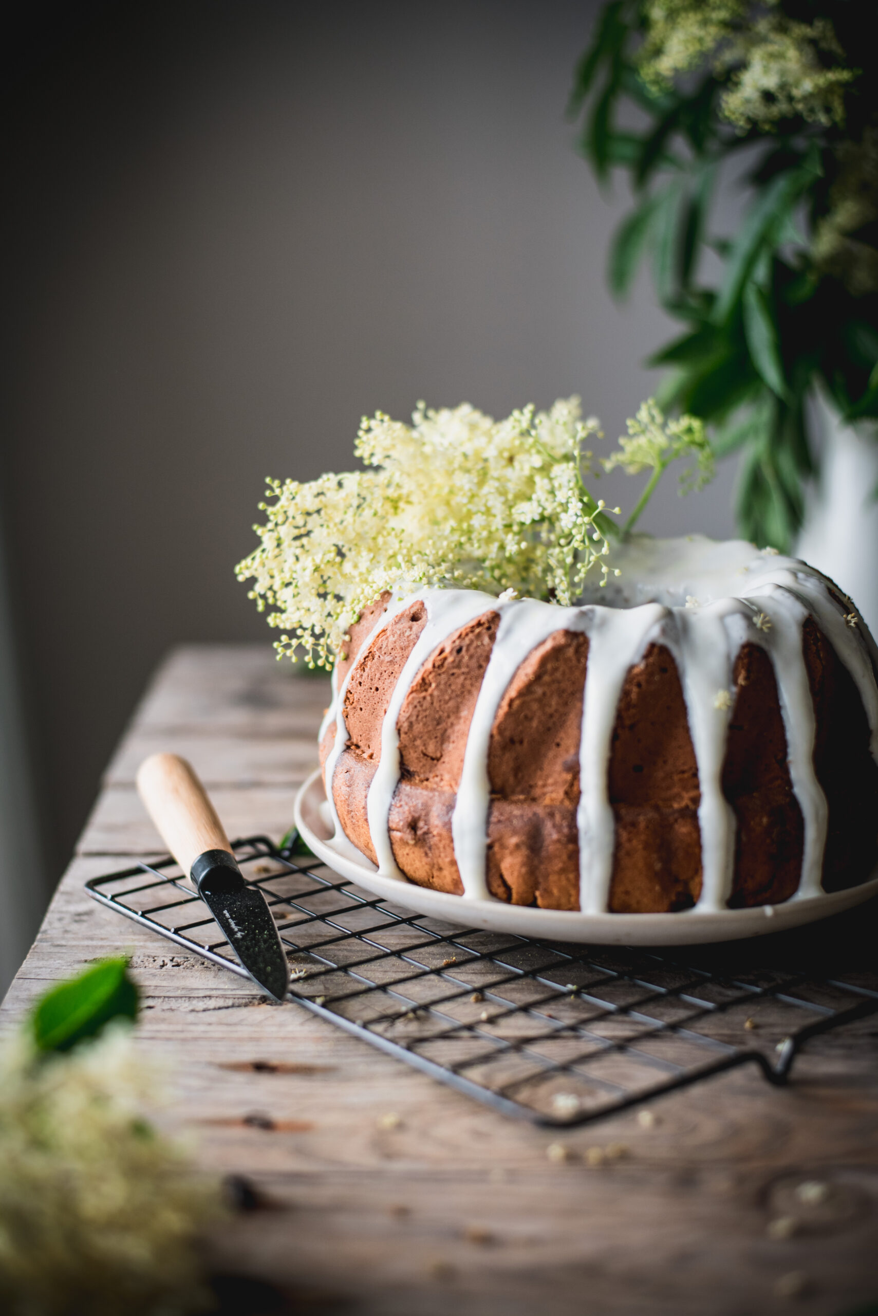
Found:
[[187, 878], [205, 850], [227, 850], [229, 837], [193, 769], [179, 754], [150, 754], [137, 788], [168, 850]]

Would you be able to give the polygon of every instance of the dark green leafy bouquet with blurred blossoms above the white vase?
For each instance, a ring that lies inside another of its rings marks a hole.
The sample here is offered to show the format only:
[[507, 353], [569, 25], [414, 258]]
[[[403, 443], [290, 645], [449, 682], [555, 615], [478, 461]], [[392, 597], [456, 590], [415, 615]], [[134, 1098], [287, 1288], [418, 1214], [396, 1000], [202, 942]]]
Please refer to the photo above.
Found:
[[[598, 179], [624, 168], [635, 193], [611, 291], [624, 297], [649, 257], [661, 305], [686, 325], [652, 357], [672, 367], [657, 399], [701, 417], [718, 455], [743, 450], [741, 530], [782, 550], [814, 470], [807, 395], [878, 417], [878, 54], [867, 7], [823, 9], [612, 0], [570, 97]], [[619, 126], [626, 103], [637, 132]], [[711, 212], [735, 161], [747, 204], [727, 237]]]

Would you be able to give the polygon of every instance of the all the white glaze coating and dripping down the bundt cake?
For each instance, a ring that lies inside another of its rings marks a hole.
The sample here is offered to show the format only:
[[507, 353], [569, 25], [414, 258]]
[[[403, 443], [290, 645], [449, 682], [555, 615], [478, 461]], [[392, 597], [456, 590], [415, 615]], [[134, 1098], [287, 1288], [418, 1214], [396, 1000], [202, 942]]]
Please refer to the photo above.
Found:
[[[630, 572], [624, 570], [626, 555], [634, 569]], [[628, 670], [653, 641], [665, 644], [677, 663], [698, 766], [703, 879], [694, 912], [723, 909], [731, 892], [735, 816], [722, 791], [722, 770], [735, 699], [732, 670], [747, 642], [761, 646], [774, 669], [790, 780], [803, 816], [802, 876], [794, 899], [819, 896], [828, 811], [814, 769], [816, 720], [802, 651], [802, 628], [808, 613], [814, 615], [850, 672], [869, 721], [873, 757], [878, 761], [878, 649], [874, 641], [860, 632], [861, 622], [848, 624], [819, 572], [795, 559], [756, 555], [753, 546], [743, 541], [715, 544], [689, 536], [685, 541], [649, 544], [635, 538], [616, 561], [623, 563], [623, 582], [603, 594], [603, 599], [612, 599], [616, 607], [559, 608], [536, 600], [501, 603], [476, 591], [423, 590], [394, 601], [379, 621], [360, 655], [415, 599], [427, 607], [427, 625], [400, 674], [384, 719], [381, 759], [368, 794], [369, 832], [380, 871], [402, 876], [393, 859], [388, 816], [400, 778], [397, 720], [405, 696], [426, 658], [443, 640], [477, 616], [497, 611], [501, 622], [476, 701], [452, 815], [455, 858], [467, 898], [488, 896], [488, 747], [497, 709], [520, 663], [556, 630], [584, 630], [590, 645], [577, 809], [580, 908], [586, 913], [607, 908], [615, 846], [607, 782], [612, 728]], [[683, 599], [686, 607], [681, 607]], [[334, 701], [321, 729], [323, 734], [335, 717], [335, 744], [325, 769], [327, 783], [347, 744], [342, 709], [355, 667], [356, 663], [338, 691], [334, 679]], [[723, 692], [728, 692], [728, 699]], [[343, 832], [333, 792], [327, 795], [339, 844]]]

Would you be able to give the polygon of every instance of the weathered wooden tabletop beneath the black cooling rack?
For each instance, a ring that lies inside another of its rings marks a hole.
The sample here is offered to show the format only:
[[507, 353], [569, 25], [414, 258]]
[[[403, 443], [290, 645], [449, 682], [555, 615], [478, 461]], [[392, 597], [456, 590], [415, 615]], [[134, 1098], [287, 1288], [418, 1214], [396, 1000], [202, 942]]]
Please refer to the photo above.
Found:
[[[570, 1130], [556, 1161], [556, 1132], [264, 1004], [88, 899], [87, 878], [160, 853], [133, 784], [156, 749], [191, 758], [230, 836], [279, 837], [327, 699], [326, 680], [268, 646], [172, 653], [4, 1005], [8, 1028], [53, 980], [133, 949], [139, 1045], [172, 1062], [204, 1162], [263, 1195], [209, 1241], [212, 1263], [271, 1280], [292, 1309], [354, 1316], [846, 1316], [875, 1302], [875, 1016], [815, 1040], [786, 1088], [747, 1066], [652, 1103], [652, 1126], [628, 1112]], [[275, 1128], [244, 1123], [252, 1112]], [[390, 1112], [400, 1123], [382, 1126]], [[628, 1157], [589, 1166], [586, 1150], [614, 1141]], [[831, 1184], [836, 1208], [772, 1237], [808, 1180]]]

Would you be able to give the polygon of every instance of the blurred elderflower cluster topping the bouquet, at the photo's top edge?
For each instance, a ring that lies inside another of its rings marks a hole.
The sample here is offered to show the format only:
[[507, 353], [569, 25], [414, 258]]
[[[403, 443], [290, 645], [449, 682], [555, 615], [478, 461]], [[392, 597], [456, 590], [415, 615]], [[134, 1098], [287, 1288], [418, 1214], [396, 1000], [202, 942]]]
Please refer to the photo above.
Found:
[[844, 122], [845, 88], [858, 70], [844, 67], [832, 24], [787, 18], [778, 0], [647, 0], [640, 75], [664, 91], [680, 74], [707, 64], [731, 71], [720, 112], [741, 132], [781, 120]]

